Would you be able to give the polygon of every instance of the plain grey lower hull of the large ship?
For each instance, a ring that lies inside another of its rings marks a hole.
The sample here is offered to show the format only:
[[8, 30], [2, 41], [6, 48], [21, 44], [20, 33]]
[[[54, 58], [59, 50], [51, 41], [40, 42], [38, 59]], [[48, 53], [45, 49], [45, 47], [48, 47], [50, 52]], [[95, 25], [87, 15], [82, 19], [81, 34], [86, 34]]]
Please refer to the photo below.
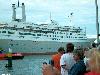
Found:
[[[69, 40], [68, 42], [72, 42], [75, 47], [91, 47], [93, 41], [77, 40], [73, 42]], [[0, 39], [0, 48], [3, 48], [6, 52], [8, 52], [8, 48], [11, 48], [13, 52], [22, 53], [57, 52], [57, 49], [61, 46], [66, 48], [68, 42]]]

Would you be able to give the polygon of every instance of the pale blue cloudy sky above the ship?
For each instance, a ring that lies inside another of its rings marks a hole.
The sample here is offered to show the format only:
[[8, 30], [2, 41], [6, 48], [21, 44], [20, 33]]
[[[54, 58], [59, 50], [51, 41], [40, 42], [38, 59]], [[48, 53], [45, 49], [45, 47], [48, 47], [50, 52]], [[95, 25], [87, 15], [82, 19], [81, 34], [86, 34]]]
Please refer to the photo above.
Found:
[[[11, 22], [12, 4], [17, 5], [18, 0], [0, 0], [0, 22]], [[25, 3], [26, 21], [33, 23], [49, 23], [51, 19], [60, 26], [72, 25], [85, 28], [87, 35], [96, 35], [95, 0], [19, 0]], [[100, 0], [99, 23], [100, 23]], [[17, 17], [21, 17], [21, 9], [17, 9]], [[71, 18], [70, 13], [73, 13]]]

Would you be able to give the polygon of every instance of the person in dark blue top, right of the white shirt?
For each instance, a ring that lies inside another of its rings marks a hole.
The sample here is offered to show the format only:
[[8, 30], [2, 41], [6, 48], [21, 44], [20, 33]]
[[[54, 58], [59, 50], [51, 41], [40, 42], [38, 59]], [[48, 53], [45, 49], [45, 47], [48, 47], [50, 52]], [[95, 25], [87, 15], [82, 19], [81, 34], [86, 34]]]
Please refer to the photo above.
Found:
[[83, 61], [84, 59], [84, 52], [82, 50], [74, 50], [73, 51], [73, 58], [76, 63], [71, 67], [68, 72], [68, 75], [84, 75], [86, 72], [86, 66]]

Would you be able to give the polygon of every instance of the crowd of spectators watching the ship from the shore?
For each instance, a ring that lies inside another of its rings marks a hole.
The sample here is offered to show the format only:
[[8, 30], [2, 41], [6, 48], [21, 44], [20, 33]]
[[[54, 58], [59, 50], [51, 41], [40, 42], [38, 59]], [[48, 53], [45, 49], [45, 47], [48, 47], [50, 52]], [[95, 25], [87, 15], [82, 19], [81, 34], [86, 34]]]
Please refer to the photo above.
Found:
[[52, 55], [50, 64], [43, 65], [43, 75], [100, 75], [100, 46], [95, 43], [92, 48], [76, 48], [68, 43]]

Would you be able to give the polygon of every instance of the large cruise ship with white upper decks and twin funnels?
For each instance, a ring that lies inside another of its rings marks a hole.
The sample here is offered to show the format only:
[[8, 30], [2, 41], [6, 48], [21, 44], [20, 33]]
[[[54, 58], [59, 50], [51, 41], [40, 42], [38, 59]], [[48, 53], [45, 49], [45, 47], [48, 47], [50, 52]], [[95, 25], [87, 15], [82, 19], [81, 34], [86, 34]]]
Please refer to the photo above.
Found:
[[[22, 9], [22, 19], [16, 18], [16, 9]], [[57, 52], [72, 42], [75, 47], [90, 47], [94, 39], [88, 39], [85, 28], [61, 26], [55, 20], [47, 24], [26, 22], [25, 4], [12, 4], [12, 21], [0, 23], [0, 48], [13, 52], [37, 53]]]

